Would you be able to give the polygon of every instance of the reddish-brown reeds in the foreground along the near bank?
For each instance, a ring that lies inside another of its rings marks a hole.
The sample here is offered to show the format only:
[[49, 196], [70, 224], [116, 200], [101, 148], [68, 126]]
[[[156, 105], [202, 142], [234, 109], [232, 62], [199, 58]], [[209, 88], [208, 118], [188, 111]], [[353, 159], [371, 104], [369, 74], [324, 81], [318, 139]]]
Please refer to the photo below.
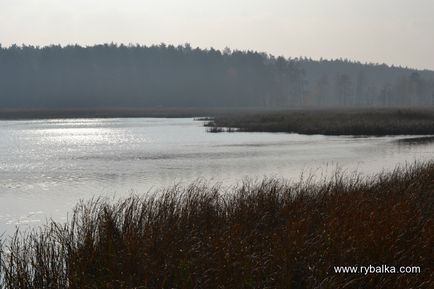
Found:
[[[434, 288], [434, 163], [81, 202], [1, 248], [10, 288]], [[343, 265], [419, 274], [337, 274]]]

